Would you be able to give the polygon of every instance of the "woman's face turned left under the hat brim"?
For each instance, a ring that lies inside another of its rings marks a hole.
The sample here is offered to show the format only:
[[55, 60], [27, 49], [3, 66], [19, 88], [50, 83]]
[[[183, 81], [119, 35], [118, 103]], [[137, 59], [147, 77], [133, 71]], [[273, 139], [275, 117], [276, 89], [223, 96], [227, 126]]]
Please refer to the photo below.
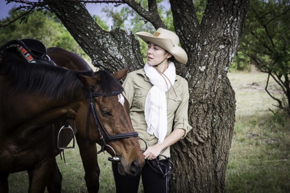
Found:
[[162, 47], [148, 42], [147, 49], [147, 63], [151, 66], [158, 65], [164, 61], [167, 62], [167, 58], [170, 58], [172, 55], [165, 51]]

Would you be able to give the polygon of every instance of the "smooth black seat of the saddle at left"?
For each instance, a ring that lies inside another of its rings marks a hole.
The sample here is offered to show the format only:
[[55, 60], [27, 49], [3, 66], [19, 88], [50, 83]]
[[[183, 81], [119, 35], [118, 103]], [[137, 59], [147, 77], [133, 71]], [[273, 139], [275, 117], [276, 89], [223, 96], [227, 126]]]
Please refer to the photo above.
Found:
[[46, 47], [41, 41], [30, 38], [20, 39], [20, 41], [22, 41], [35, 56], [41, 58], [46, 57]]

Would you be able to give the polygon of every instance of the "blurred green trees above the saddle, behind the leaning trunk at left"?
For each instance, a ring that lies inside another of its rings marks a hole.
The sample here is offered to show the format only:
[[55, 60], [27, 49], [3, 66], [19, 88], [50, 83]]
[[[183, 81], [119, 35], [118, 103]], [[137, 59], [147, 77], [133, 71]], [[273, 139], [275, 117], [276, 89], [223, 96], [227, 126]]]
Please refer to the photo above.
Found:
[[[14, 9], [12, 8], [6, 19], [3, 19], [0, 23], [8, 20], [12, 21], [21, 15], [22, 11], [14, 11]], [[93, 18], [102, 29], [108, 30], [109, 26], [99, 16], [93, 15]], [[62, 47], [89, 59], [57, 16], [50, 11], [34, 10], [27, 21], [13, 22], [0, 28], [0, 45], [12, 39], [22, 38], [34, 38], [43, 42], [46, 47]]]

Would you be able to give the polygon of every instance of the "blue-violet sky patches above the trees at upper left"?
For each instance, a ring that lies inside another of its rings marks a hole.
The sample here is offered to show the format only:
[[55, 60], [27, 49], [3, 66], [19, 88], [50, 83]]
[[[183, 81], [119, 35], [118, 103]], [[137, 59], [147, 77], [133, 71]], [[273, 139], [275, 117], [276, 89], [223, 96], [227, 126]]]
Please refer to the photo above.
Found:
[[[14, 6], [20, 5], [19, 3], [8, 3], [6, 5], [6, 1], [5, 0], [0, 0], [0, 19], [4, 19], [6, 18], [6, 16], [8, 16], [8, 12], [11, 10], [11, 8], [13, 8]], [[98, 15], [102, 17], [102, 20], [106, 20], [107, 21], [107, 25], [111, 26], [113, 25], [112, 21], [110, 19], [107, 19], [105, 14], [101, 12], [102, 8], [104, 7], [113, 7], [113, 3], [87, 3], [86, 8], [88, 9], [88, 12], [92, 15]], [[122, 6], [122, 5], [121, 5]], [[119, 6], [116, 9], [121, 8], [121, 6]]]

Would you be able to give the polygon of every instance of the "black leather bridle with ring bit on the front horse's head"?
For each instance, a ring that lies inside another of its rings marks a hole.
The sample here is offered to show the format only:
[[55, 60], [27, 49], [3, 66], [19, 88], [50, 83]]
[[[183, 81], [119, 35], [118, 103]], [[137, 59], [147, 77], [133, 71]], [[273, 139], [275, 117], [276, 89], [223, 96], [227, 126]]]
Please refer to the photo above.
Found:
[[[106, 129], [104, 128], [104, 126], [102, 125], [102, 122], [99, 119], [99, 116], [98, 116], [98, 113], [97, 113], [97, 109], [96, 109], [95, 103], [93, 101], [93, 97], [99, 97], [99, 96], [114, 96], [114, 95], [118, 95], [120, 93], [122, 93], [122, 91], [112, 91], [111, 93], [108, 94], [108, 93], [103, 93], [103, 92], [93, 92], [92, 93], [92, 91], [89, 90], [89, 96], [88, 96], [88, 98], [89, 98], [89, 105], [88, 105], [88, 114], [87, 114], [87, 123], [86, 123], [86, 135], [87, 135], [87, 139], [90, 140], [90, 137], [89, 137], [89, 119], [90, 119], [90, 111], [92, 111], [93, 118], [94, 118], [94, 121], [95, 121], [95, 125], [97, 127], [97, 130], [98, 130], [100, 139], [102, 139], [102, 141], [103, 141], [102, 149], [98, 152], [98, 154], [101, 153], [101, 152], [104, 152], [104, 155], [108, 158], [109, 161], [112, 161], [112, 162], [120, 161], [120, 158], [116, 156], [115, 150], [110, 145], [108, 145], [108, 141], [116, 140], [116, 139], [123, 139], [123, 138], [128, 138], [128, 137], [137, 137], [138, 136], [138, 133], [137, 132], [128, 132], [128, 133], [121, 133], [121, 134], [109, 135], [107, 133]], [[105, 133], [105, 137], [103, 136], [101, 130]], [[111, 150], [113, 150], [115, 156], [108, 157], [106, 155], [106, 153], [105, 153], [105, 148], [106, 147], [108, 147]]]

